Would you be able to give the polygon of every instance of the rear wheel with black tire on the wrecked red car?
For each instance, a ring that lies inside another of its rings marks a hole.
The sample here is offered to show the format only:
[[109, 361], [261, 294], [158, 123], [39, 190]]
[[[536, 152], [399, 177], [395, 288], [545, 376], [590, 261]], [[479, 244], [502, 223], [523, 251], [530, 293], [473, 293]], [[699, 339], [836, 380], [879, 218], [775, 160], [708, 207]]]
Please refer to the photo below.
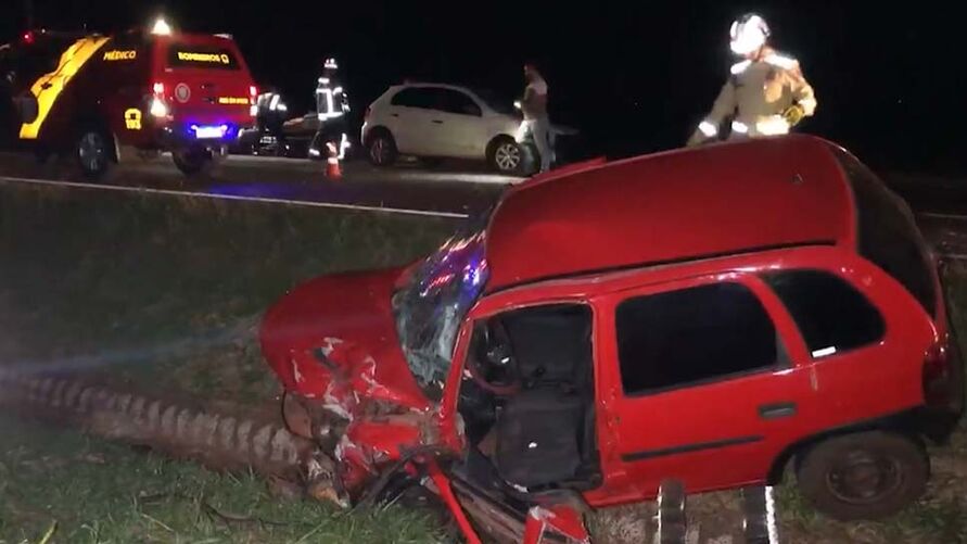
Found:
[[923, 445], [885, 431], [828, 439], [810, 448], [798, 466], [803, 495], [840, 521], [896, 514], [923, 495], [930, 476]]

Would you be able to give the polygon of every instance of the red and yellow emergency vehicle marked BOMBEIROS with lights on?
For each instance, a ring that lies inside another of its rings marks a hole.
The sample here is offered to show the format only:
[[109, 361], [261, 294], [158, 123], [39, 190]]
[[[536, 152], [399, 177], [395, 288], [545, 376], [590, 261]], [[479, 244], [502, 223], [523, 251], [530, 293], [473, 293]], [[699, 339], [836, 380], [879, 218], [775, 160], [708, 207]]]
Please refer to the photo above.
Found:
[[40, 153], [71, 153], [87, 177], [128, 150], [170, 151], [191, 175], [255, 136], [257, 89], [228, 35], [158, 22], [117, 36], [26, 33], [15, 49], [17, 137]]

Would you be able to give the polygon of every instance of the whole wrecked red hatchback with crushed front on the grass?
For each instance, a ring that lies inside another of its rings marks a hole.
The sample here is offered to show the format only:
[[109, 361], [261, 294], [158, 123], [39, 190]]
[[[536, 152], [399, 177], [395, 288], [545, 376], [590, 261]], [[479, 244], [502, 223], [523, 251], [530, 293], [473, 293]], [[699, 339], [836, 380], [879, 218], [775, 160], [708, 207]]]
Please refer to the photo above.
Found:
[[514, 187], [407, 268], [262, 326], [338, 495], [432, 490], [469, 542], [588, 540], [589, 509], [778, 483], [839, 519], [916, 499], [963, 405], [934, 262], [854, 156], [791, 136]]

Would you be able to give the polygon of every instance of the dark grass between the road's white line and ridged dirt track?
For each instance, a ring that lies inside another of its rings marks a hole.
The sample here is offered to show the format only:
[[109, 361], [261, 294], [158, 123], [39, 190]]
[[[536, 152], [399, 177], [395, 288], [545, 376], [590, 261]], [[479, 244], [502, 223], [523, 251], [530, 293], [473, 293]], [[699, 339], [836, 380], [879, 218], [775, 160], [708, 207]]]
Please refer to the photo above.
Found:
[[0, 327], [9, 336], [0, 356], [194, 393], [265, 394], [272, 380], [253, 332], [275, 299], [313, 276], [405, 264], [453, 228], [449, 220], [7, 187]]

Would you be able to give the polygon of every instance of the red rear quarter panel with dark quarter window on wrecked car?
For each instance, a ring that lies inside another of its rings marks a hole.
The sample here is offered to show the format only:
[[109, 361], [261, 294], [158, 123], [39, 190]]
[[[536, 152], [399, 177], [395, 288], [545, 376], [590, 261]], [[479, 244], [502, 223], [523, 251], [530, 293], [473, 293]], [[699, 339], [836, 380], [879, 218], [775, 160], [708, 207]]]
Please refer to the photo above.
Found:
[[[853, 275], [852, 281], [848, 274]], [[806, 407], [815, 432], [868, 421], [921, 402], [919, 362], [933, 334], [924, 321], [912, 318], [920, 309], [916, 302], [880, 294], [876, 277], [856, 268], [844, 274], [790, 267], [769, 270], [763, 280], [796, 321], [801, 357], [816, 383], [822, 383], [813, 406]]]

